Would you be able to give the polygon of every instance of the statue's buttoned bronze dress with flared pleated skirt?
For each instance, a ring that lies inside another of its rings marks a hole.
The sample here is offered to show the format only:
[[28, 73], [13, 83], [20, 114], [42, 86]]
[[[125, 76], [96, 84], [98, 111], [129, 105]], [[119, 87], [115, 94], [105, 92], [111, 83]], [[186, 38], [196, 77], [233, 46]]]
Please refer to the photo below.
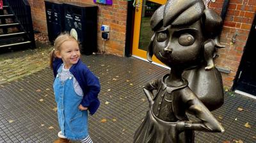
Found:
[[[176, 117], [173, 109], [176, 110], [176, 101], [174, 91], [182, 90], [188, 87], [188, 83], [179, 87], [166, 86], [165, 79], [168, 75], [165, 75], [161, 79], [161, 83], [158, 84], [158, 91], [154, 97], [154, 102], [149, 106], [149, 110], [143, 123], [141, 123], [138, 130], [134, 134], [134, 143], [190, 143], [194, 142], [194, 132], [192, 130], [186, 130], [185, 132], [178, 132], [176, 124], [178, 121], [188, 121], [184, 110], [184, 114], [181, 117]], [[177, 101], [178, 102], [178, 101]], [[155, 113], [155, 114], [154, 114]], [[175, 118], [174, 122], [168, 121], [168, 116]], [[182, 119], [180, 119], [182, 118]]]

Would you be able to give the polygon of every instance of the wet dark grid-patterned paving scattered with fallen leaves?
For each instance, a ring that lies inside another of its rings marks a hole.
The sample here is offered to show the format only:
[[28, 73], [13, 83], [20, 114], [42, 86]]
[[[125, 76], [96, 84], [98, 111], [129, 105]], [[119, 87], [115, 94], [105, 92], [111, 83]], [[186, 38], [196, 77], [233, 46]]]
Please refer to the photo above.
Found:
[[[47, 56], [44, 56], [41, 52], [40, 57], [46, 61]], [[82, 56], [82, 59], [99, 77], [102, 86], [100, 108], [89, 117], [93, 142], [132, 142], [133, 134], [148, 108], [142, 86], [168, 73], [168, 70], [134, 57], [96, 54]], [[8, 56], [4, 60], [8, 60]], [[25, 67], [30, 65], [33, 64]], [[0, 143], [48, 143], [57, 139], [59, 128], [52, 91], [53, 75], [44, 65], [42, 70], [0, 82]], [[5, 74], [1, 74], [2, 78]], [[252, 98], [225, 93], [224, 105], [212, 112], [223, 124], [225, 132], [196, 132], [195, 142], [256, 142], [255, 107], [256, 100]]]

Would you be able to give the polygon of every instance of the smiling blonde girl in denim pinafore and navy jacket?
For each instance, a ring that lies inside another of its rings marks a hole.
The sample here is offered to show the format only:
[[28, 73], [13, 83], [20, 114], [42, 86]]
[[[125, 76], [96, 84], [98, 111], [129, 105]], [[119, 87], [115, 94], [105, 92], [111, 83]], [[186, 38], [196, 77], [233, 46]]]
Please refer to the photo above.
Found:
[[54, 73], [54, 94], [61, 132], [58, 142], [92, 142], [88, 133], [88, 112], [99, 108], [99, 79], [82, 63], [77, 40], [60, 34], [54, 41], [50, 66]]

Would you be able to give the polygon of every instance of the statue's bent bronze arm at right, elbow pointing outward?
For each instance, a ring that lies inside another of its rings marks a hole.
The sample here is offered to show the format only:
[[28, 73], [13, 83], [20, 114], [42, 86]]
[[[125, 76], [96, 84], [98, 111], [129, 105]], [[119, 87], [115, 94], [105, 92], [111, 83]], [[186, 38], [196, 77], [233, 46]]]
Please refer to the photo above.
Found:
[[193, 114], [200, 122], [181, 121], [177, 124], [182, 130], [200, 130], [205, 132], [224, 132], [223, 126], [211, 114], [197, 96], [190, 90], [186, 89], [186, 95], [182, 96], [183, 102], [187, 107], [187, 112]]

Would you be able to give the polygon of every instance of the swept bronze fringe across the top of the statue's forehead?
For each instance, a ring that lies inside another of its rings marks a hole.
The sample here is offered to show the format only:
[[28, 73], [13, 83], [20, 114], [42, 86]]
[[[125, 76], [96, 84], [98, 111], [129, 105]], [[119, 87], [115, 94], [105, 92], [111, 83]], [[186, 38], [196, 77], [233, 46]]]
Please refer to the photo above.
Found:
[[150, 25], [156, 30], [161, 26], [192, 24], [202, 17], [204, 10], [202, 0], [169, 0], [155, 11]]

